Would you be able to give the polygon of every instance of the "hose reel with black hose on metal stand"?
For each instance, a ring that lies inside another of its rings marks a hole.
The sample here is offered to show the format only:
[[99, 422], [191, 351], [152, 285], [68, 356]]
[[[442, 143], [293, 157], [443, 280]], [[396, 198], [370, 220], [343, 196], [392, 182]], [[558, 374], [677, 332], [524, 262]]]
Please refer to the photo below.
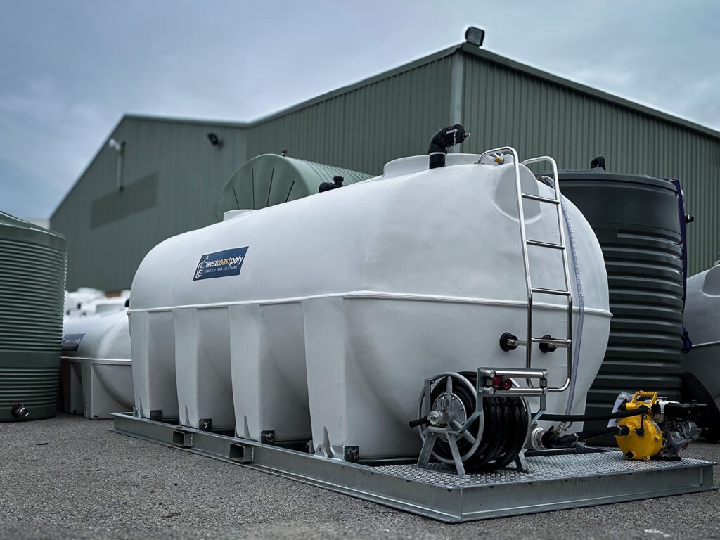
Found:
[[[510, 377], [539, 379], [539, 387], [518, 387]], [[409, 424], [423, 440], [418, 467], [429, 468], [433, 456], [461, 476], [513, 462], [526, 470], [523, 447], [534, 419], [525, 397], [539, 396], [544, 412], [546, 393], [544, 370], [480, 368], [426, 379], [418, 419]]]

